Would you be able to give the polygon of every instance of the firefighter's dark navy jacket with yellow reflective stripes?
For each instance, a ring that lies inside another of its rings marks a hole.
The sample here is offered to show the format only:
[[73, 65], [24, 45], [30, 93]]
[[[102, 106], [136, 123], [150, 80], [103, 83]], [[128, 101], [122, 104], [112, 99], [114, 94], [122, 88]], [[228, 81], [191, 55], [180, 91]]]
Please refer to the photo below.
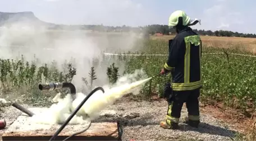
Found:
[[202, 87], [201, 56], [202, 40], [190, 27], [169, 40], [169, 55], [164, 68], [171, 70], [173, 91]]

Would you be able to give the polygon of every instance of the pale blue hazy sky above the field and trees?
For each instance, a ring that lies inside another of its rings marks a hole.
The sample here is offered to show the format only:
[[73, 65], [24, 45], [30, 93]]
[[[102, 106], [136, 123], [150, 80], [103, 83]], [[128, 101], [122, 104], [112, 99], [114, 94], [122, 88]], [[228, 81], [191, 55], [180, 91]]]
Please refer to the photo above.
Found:
[[40, 20], [63, 24], [168, 24], [175, 10], [200, 18], [205, 30], [256, 34], [253, 0], [0, 0], [0, 11], [32, 11]]

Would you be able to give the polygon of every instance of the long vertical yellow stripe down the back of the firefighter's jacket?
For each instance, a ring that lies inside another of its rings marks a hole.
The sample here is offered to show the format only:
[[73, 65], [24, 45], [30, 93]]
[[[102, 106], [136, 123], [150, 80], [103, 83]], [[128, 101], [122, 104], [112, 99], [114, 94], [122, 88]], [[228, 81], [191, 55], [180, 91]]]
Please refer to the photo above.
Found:
[[190, 42], [186, 43], [186, 53], [184, 58], [184, 83], [189, 83], [190, 78]]

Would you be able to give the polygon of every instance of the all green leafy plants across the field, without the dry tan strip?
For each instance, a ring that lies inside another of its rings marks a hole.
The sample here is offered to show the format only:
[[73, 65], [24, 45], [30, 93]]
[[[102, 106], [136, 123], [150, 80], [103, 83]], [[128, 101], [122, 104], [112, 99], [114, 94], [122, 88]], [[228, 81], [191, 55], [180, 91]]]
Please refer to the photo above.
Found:
[[[106, 69], [109, 83], [114, 84], [121, 74], [134, 73], [134, 70], [141, 69], [152, 77], [159, 73], [163, 67], [167, 56], [143, 56], [142, 54], [167, 54], [168, 43], [161, 40], [146, 40], [143, 44], [138, 44], [139, 56], [104, 56], [106, 61], [94, 60], [88, 79], [81, 78], [85, 82], [88, 90], [92, 90], [93, 81], [97, 79], [97, 72], [94, 68], [102, 64], [110, 64]], [[230, 53], [245, 53], [240, 49], [226, 49], [228, 54], [207, 54], [222, 53], [223, 49], [203, 47], [202, 71], [203, 89], [201, 101], [203, 102], [223, 102], [226, 106], [240, 109], [245, 115], [252, 115], [256, 105], [256, 58], [232, 55]], [[129, 53], [132, 54], [132, 53]], [[64, 63], [62, 70], [57, 69], [57, 63], [43, 64], [36, 67], [35, 59], [26, 62], [23, 57], [17, 60], [0, 60], [0, 84], [2, 95], [22, 96], [31, 104], [41, 104], [40, 101], [49, 101], [53, 92], [42, 92], [38, 90], [38, 83], [44, 82], [71, 82], [76, 75], [76, 68], [71, 63]], [[119, 72], [118, 62], [127, 64], [124, 72]], [[152, 93], [157, 93], [162, 97], [163, 87], [170, 81], [170, 75], [152, 79], [145, 84], [141, 90], [141, 96], [149, 97]], [[139, 78], [138, 78], [139, 79]], [[77, 90], [79, 90], [77, 88]], [[60, 92], [60, 91], [58, 91]], [[67, 93], [67, 90], [62, 90]], [[45, 103], [43, 103], [45, 104]], [[48, 103], [47, 103], [48, 104]], [[250, 109], [250, 110], [248, 110]]]

